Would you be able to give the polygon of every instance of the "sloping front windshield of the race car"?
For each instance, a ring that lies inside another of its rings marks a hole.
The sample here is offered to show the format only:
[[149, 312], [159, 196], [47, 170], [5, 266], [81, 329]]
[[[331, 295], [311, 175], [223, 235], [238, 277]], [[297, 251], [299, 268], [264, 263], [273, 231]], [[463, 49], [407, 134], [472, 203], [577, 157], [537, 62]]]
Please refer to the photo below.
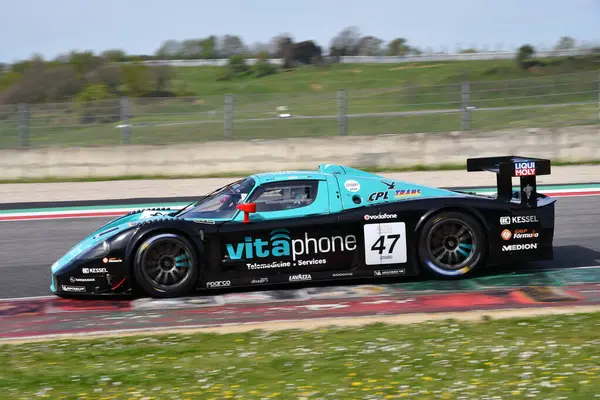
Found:
[[240, 204], [255, 185], [252, 178], [246, 178], [233, 182], [221, 189], [214, 191], [193, 204], [190, 204], [180, 213], [184, 218], [231, 218], [237, 211], [235, 208]]

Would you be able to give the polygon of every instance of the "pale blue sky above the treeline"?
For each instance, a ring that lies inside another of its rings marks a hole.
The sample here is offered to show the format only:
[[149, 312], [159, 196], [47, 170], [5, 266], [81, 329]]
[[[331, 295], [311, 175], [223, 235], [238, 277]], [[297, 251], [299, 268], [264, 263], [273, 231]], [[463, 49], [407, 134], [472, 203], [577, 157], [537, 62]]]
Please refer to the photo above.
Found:
[[600, 0], [19, 0], [2, 5], [0, 62], [39, 53], [123, 49], [153, 54], [167, 39], [280, 33], [328, 48], [346, 26], [434, 51], [552, 47], [560, 36], [600, 43]]

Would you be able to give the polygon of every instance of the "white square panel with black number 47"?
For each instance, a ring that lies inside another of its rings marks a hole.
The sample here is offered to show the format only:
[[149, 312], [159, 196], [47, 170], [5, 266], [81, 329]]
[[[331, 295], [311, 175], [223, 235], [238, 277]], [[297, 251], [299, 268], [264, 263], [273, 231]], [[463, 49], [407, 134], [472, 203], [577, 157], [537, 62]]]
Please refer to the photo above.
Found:
[[365, 263], [367, 265], [403, 264], [406, 262], [406, 224], [387, 222], [367, 224]]

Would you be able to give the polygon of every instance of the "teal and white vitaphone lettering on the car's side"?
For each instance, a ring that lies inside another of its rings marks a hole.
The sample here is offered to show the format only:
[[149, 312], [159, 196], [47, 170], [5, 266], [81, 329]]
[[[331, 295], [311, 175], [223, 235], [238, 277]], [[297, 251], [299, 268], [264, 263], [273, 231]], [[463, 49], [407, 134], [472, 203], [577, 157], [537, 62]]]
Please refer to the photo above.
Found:
[[287, 229], [274, 229], [269, 240], [246, 236], [241, 243], [226, 244], [227, 254], [232, 260], [249, 260], [255, 257], [289, 257], [306, 254], [330, 253], [356, 250], [356, 236], [332, 236], [310, 238], [304, 233], [302, 239], [292, 239]]

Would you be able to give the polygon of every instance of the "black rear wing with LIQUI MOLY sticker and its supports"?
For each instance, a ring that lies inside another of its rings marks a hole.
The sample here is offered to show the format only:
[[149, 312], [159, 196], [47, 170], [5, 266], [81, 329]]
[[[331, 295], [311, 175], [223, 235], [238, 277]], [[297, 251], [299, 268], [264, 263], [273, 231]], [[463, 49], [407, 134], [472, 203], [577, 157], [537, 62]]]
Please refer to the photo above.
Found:
[[488, 171], [496, 174], [498, 198], [512, 198], [512, 178], [521, 181], [521, 204], [537, 206], [536, 176], [550, 175], [550, 160], [533, 157], [502, 156], [468, 158], [467, 171]]

